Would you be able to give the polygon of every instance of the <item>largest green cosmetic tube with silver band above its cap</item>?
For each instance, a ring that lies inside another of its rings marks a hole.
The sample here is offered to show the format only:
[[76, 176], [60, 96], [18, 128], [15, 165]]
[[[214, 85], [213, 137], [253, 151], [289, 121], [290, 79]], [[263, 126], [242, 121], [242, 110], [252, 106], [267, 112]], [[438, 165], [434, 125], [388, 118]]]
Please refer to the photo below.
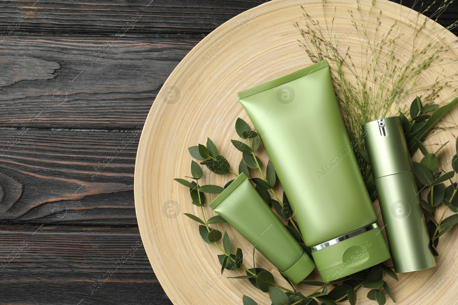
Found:
[[390, 258], [325, 60], [241, 91], [324, 281]]

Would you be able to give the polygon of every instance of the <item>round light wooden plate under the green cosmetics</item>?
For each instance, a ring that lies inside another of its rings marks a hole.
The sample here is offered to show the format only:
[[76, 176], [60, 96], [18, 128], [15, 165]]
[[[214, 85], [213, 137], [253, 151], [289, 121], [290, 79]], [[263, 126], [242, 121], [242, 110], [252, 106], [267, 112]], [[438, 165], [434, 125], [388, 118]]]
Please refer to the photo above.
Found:
[[[299, 22], [302, 28], [305, 27], [301, 5], [313, 18], [323, 20], [321, 0], [273, 0], [218, 27], [176, 67], [148, 114], [136, 160], [136, 214], [149, 261], [175, 305], [241, 305], [243, 294], [251, 296], [258, 304], [271, 304], [268, 295], [255, 289], [248, 280], [226, 278], [244, 274], [241, 270], [226, 270], [223, 276], [220, 275], [217, 254], [221, 253], [214, 245], [202, 241], [197, 223], [183, 215], [200, 215], [200, 211], [191, 204], [189, 190], [174, 182], [173, 178], [190, 176], [193, 159], [188, 147], [205, 144], [207, 137], [213, 140], [221, 154], [229, 160], [231, 168], [237, 171], [241, 153], [230, 139], [239, 139], [234, 128], [235, 120], [241, 117], [249, 122], [249, 119], [236, 93], [312, 64], [305, 50], [298, 46], [297, 39], [301, 36], [293, 26]], [[362, 0], [361, 6], [365, 13], [370, 1]], [[356, 12], [356, 1], [328, 0], [328, 18], [332, 18], [334, 7], [337, 11], [333, 33], [345, 48], [350, 46], [350, 54], [357, 58], [358, 50], [351, 49], [351, 46], [359, 45], [358, 37], [351, 30], [347, 11]], [[377, 11], [375, 16], [381, 11], [380, 36], [394, 21], [398, 20], [399, 26], [406, 26], [416, 16], [416, 12], [387, 0], [377, 0], [374, 11]], [[373, 19], [371, 22], [376, 22]], [[422, 18], [420, 20], [423, 21]], [[414, 27], [415, 24], [405, 30], [405, 45], [398, 54], [401, 61], [408, 59], [413, 48], [420, 47], [420, 44], [412, 46], [413, 40], [409, 37], [413, 35]], [[442, 37], [446, 41], [457, 39], [450, 32], [437, 36], [439, 29], [442, 29], [440, 25], [429, 21], [417, 41], [425, 44]], [[448, 55], [458, 58], [457, 48]], [[354, 63], [358, 67], [358, 60]], [[445, 69], [445, 75], [453, 75], [458, 71], [458, 65], [428, 69], [422, 80], [432, 83], [442, 69]], [[438, 101], [451, 92], [452, 89], [443, 90]], [[440, 126], [456, 125], [451, 122], [458, 122], [457, 110], [448, 113], [443, 120]], [[438, 144], [451, 141], [440, 154], [440, 161], [444, 162], [441, 167], [445, 170], [451, 168], [447, 161], [454, 154], [454, 134], [454, 129], [444, 130], [429, 136], [426, 141], [433, 145], [431, 150]], [[267, 160], [265, 151], [262, 150], [259, 155], [262, 161]], [[420, 155], [416, 154], [414, 160], [420, 160]], [[204, 175], [203, 183], [221, 186], [234, 178], [230, 174], [218, 176], [207, 168], [204, 168]], [[207, 202], [214, 197], [208, 196]], [[205, 212], [207, 217], [214, 215], [209, 208], [205, 208]], [[216, 226], [223, 232], [228, 231], [233, 248], [244, 250], [244, 264], [252, 268], [251, 252], [246, 250], [250, 249], [250, 244], [228, 224]], [[453, 229], [441, 238], [436, 268], [399, 274], [399, 282], [387, 279], [397, 304], [454, 304], [458, 288], [455, 279], [458, 272], [457, 246], [456, 230]], [[256, 253], [255, 259], [257, 267], [271, 270], [276, 282], [287, 286], [278, 271], [261, 254]], [[310, 279], [319, 279], [316, 270]], [[315, 289], [305, 284], [296, 288], [304, 294]], [[358, 289], [359, 304], [376, 304], [376, 301], [365, 297], [368, 291]], [[393, 301], [387, 300], [387, 304], [393, 304]]]

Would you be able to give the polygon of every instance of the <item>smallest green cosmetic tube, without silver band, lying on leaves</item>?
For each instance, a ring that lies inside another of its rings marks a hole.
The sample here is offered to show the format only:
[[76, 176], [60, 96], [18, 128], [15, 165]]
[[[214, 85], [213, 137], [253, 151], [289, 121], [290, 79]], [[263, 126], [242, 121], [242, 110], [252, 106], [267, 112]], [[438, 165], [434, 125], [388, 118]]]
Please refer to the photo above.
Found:
[[241, 173], [211, 203], [275, 267], [298, 284], [315, 268], [311, 258]]

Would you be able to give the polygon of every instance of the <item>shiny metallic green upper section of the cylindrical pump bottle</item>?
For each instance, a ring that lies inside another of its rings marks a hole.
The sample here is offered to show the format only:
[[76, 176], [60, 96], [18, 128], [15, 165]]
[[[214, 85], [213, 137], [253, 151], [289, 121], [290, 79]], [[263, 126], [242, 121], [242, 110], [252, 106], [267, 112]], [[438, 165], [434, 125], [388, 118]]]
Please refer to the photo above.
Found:
[[362, 135], [374, 179], [413, 171], [399, 117], [389, 117], [365, 123], [362, 126]]

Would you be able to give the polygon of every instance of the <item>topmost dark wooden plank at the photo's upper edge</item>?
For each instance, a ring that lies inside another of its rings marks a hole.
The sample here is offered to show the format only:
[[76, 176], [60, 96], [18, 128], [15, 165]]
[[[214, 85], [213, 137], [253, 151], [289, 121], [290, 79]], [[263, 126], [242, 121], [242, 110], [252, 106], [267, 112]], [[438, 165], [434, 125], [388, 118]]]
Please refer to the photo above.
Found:
[[1, 1], [0, 29], [7, 36], [30, 33], [111, 36], [118, 32], [118, 35], [125, 32], [124, 35], [137, 37], [208, 34], [230, 18], [266, 0], [90, 2], [93, 1]]

